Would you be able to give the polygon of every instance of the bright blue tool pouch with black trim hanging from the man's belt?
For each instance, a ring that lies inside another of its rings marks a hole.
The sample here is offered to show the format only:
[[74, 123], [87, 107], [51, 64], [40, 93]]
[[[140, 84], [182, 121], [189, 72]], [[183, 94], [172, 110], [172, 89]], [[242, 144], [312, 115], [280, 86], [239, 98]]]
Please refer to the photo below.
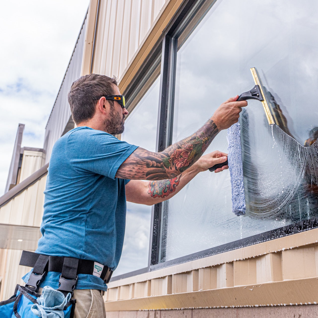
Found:
[[[37, 304], [37, 298], [40, 297], [40, 294], [36, 294], [27, 287], [17, 285], [15, 294], [6, 301], [0, 302], [0, 317], [1, 318], [38, 318], [38, 315], [35, 315], [31, 311], [31, 307], [34, 304]], [[63, 308], [64, 318], [73, 318], [74, 309], [75, 309], [75, 299], [69, 300]], [[53, 311], [54, 312], [54, 311]], [[52, 311], [48, 314], [48, 317], [54, 317]], [[57, 312], [56, 317], [62, 317], [62, 311]], [[42, 315], [46, 317], [46, 315]]]

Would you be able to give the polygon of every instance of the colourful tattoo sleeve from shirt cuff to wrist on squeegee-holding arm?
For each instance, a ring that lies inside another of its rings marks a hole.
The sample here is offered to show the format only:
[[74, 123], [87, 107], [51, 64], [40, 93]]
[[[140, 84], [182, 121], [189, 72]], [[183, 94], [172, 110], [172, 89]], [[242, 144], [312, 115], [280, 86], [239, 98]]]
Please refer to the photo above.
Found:
[[116, 177], [139, 180], [175, 178], [195, 163], [209, 147], [218, 128], [212, 119], [191, 136], [162, 152], [137, 148], [119, 167]]

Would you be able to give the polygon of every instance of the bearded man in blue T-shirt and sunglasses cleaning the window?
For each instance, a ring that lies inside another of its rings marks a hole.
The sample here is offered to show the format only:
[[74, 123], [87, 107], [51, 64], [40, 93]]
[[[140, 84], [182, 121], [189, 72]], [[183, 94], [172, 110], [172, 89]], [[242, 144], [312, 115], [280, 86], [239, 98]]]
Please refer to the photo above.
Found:
[[[76, 318], [105, 316], [101, 296], [107, 289], [104, 269], [114, 270], [121, 256], [126, 200], [148, 205], [162, 202], [198, 172], [225, 162], [227, 155], [220, 151], [202, 154], [220, 130], [238, 121], [247, 102], [236, 102], [237, 98], [223, 103], [193, 135], [162, 152], [151, 152], [113, 136], [123, 132], [128, 114], [116, 79], [90, 74], [73, 83], [68, 101], [77, 127], [62, 136], [52, 150], [43, 236], [36, 252], [93, 262], [93, 272], [78, 270], [76, 280], [73, 277]], [[67, 291], [62, 285], [70, 276], [48, 271], [44, 281], [38, 282], [40, 287], [58, 288], [60, 282], [60, 289]]]

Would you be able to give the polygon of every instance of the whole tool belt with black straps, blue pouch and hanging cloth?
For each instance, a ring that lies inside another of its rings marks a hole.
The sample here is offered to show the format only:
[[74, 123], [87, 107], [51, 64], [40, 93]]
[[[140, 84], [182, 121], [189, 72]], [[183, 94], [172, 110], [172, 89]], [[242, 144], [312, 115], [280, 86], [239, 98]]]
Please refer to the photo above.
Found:
[[[46, 314], [59, 311], [58, 315], [63, 314], [64, 318], [73, 318], [76, 300], [71, 297], [77, 284], [78, 274], [94, 275], [108, 283], [113, 273], [107, 266], [91, 260], [27, 251], [22, 252], [20, 265], [33, 267], [32, 273], [25, 286], [17, 285], [14, 295], [0, 302], [1, 318], [36, 318], [39, 313], [42, 315], [43, 311]], [[49, 286], [44, 287], [42, 295], [37, 294], [47, 272], [61, 273], [57, 290], [65, 297]]]

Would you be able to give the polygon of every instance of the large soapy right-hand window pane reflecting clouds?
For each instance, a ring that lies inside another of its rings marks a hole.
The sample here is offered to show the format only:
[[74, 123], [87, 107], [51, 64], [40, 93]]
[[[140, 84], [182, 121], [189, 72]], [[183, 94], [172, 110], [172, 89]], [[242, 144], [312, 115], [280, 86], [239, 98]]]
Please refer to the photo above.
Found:
[[[165, 206], [161, 261], [317, 215], [317, 9], [306, 0], [217, 0], [191, 34], [181, 35], [173, 142], [252, 88], [250, 67], [279, 105], [285, 128], [270, 127], [261, 103], [248, 101], [240, 119], [246, 215], [231, 212], [228, 171], [199, 174]], [[226, 152], [226, 131], [207, 152], [215, 149]]]

